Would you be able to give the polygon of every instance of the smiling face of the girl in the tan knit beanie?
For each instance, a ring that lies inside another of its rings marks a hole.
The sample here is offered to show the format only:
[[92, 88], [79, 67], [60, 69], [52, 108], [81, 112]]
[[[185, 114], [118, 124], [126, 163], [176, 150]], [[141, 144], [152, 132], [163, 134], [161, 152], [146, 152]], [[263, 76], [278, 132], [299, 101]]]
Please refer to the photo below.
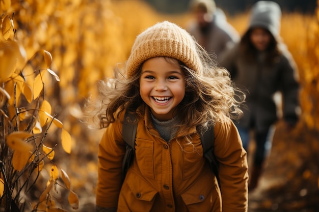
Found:
[[158, 120], [172, 119], [185, 95], [184, 73], [177, 60], [169, 60], [153, 57], [142, 66], [140, 94]]

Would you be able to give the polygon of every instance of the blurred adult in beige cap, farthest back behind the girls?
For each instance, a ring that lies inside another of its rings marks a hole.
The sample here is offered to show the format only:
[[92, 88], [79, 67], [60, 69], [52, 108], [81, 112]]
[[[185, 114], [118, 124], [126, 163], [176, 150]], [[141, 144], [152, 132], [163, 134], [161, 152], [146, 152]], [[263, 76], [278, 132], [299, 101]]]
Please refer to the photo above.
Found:
[[194, 19], [187, 26], [188, 32], [219, 62], [223, 51], [240, 40], [239, 34], [214, 0], [191, 0], [190, 9]]

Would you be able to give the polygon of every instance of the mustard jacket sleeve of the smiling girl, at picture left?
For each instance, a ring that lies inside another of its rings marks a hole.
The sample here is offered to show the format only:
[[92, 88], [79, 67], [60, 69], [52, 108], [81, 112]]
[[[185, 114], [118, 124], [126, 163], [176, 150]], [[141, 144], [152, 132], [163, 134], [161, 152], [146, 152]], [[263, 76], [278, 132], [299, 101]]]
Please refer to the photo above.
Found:
[[125, 142], [122, 138], [122, 124], [116, 121], [105, 132], [98, 145], [98, 178], [96, 205], [116, 208], [122, 184], [122, 160]]

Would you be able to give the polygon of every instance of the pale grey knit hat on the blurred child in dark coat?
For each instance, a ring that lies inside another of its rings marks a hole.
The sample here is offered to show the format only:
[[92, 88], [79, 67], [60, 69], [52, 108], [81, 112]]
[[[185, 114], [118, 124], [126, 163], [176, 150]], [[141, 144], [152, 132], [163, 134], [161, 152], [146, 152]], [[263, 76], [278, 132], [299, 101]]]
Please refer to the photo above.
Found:
[[281, 10], [277, 3], [259, 1], [252, 7], [248, 29], [256, 26], [268, 29], [277, 39], [280, 34], [280, 21]]

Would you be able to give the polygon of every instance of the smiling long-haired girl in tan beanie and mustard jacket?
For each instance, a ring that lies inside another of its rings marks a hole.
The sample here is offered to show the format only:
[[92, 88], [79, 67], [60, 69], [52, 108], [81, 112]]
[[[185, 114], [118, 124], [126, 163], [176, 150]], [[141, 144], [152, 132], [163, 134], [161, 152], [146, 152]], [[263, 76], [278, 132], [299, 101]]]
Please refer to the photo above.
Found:
[[[247, 158], [230, 117], [241, 114], [228, 72], [192, 36], [164, 21], [140, 34], [125, 77], [100, 82], [106, 127], [99, 143], [97, 211], [247, 211]], [[240, 100], [240, 101], [238, 101]], [[124, 112], [137, 117], [135, 156], [124, 181]], [[91, 113], [92, 114], [92, 113]], [[199, 133], [215, 128], [221, 190]]]

